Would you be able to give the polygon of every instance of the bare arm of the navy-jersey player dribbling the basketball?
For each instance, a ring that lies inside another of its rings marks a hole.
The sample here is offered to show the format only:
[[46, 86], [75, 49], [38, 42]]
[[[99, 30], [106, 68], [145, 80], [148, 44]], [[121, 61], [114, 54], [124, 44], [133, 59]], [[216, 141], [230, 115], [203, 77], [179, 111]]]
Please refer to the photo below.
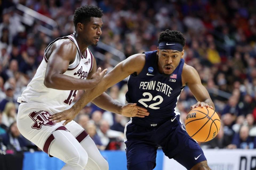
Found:
[[198, 101], [197, 104], [191, 106], [191, 109], [199, 106], [215, 109], [213, 101], [211, 100], [208, 91], [203, 86], [199, 74], [197, 70], [194, 69], [194, 67], [186, 64], [184, 65], [182, 71], [182, 80], [187, 84], [190, 91]]

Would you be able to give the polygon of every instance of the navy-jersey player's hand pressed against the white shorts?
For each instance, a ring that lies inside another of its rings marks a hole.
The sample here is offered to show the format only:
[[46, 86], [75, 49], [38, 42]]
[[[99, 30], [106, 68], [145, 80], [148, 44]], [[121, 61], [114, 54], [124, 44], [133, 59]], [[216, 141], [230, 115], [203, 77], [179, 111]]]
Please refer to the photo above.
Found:
[[74, 109], [70, 108], [70, 109], [67, 109], [65, 111], [62, 111], [62, 112], [59, 112], [59, 113], [56, 113], [56, 114], [50, 116], [49, 121], [53, 121], [53, 123], [58, 123], [63, 120], [66, 120], [63, 123], [63, 125], [65, 126], [68, 122], [73, 120], [76, 115], [77, 115], [77, 112]]

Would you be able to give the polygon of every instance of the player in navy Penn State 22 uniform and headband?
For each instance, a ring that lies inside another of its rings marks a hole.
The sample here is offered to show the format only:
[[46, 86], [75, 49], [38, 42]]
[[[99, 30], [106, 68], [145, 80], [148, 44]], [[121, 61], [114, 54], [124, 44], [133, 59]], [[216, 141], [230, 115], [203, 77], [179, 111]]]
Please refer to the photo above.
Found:
[[130, 75], [127, 102], [144, 106], [150, 114], [145, 118], [133, 117], [125, 126], [127, 169], [153, 169], [158, 147], [187, 169], [210, 169], [202, 149], [180, 122], [175, 107], [184, 86], [190, 88], [198, 101], [191, 108], [214, 109], [214, 104], [197, 71], [184, 63], [185, 38], [182, 33], [165, 30], [160, 33], [158, 43], [157, 50], [135, 54], [119, 63], [72, 109], [52, 118], [57, 122], [69, 122], [90, 100]]

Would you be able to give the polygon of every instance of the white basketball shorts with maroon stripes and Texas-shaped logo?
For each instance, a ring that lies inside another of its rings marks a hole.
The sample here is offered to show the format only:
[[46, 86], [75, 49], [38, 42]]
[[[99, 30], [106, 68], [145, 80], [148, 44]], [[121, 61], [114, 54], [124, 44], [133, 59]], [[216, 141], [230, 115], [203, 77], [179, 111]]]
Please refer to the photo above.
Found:
[[64, 121], [59, 123], [48, 121], [49, 116], [55, 113], [58, 113], [58, 111], [35, 103], [22, 102], [18, 109], [17, 126], [19, 131], [25, 138], [33, 142], [48, 155], [50, 145], [54, 141], [52, 132], [55, 130], [70, 131], [79, 143], [89, 136], [73, 120], [65, 126], [63, 126]]

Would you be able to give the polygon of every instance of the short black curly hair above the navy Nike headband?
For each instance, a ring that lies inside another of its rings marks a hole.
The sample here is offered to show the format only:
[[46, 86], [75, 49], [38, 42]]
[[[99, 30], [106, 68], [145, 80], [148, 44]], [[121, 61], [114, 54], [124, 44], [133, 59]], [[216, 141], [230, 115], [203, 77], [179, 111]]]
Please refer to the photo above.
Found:
[[158, 37], [158, 43], [172, 42], [179, 43], [182, 46], [185, 46], [185, 41], [186, 39], [184, 38], [183, 34], [176, 30], [166, 29], [165, 31], [160, 32]]

